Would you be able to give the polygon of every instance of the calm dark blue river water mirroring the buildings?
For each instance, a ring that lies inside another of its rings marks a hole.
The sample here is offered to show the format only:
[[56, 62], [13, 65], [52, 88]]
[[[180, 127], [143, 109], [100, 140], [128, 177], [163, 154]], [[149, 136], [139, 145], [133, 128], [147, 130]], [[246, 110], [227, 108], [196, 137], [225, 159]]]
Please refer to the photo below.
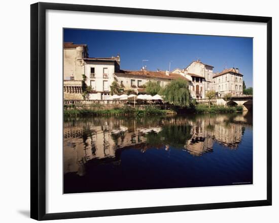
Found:
[[64, 193], [253, 183], [252, 114], [64, 122]]

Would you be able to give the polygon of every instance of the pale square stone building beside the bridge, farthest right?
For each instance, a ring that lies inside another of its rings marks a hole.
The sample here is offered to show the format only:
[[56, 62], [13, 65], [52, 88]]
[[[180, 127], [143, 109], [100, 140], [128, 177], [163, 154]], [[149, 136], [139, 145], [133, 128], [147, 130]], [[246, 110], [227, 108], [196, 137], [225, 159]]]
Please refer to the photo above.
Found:
[[235, 96], [243, 94], [243, 74], [239, 73], [237, 68], [225, 69], [213, 76], [213, 89], [218, 93], [219, 97], [223, 97], [226, 93]]

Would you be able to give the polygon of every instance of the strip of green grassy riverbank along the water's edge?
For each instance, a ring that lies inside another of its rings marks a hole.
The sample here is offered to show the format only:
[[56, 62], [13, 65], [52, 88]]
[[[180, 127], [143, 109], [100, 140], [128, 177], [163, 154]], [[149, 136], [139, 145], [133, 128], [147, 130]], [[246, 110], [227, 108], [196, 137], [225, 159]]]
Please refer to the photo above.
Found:
[[131, 106], [124, 106], [113, 109], [79, 109], [77, 107], [65, 107], [64, 116], [148, 116], [148, 115], [174, 115], [177, 113], [187, 114], [202, 114], [202, 113], [234, 113], [242, 112], [241, 106], [217, 106], [212, 105], [196, 105], [189, 108], [176, 107], [173, 110], [164, 110], [154, 106], [147, 106], [145, 109], [133, 108]]

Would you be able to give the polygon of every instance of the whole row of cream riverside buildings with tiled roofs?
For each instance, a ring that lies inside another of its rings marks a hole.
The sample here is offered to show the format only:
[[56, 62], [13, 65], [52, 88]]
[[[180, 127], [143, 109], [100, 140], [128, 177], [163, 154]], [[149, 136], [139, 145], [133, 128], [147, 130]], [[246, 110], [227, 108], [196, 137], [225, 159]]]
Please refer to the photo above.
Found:
[[[120, 56], [92, 58], [88, 56], [87, 45], [64, 43], [64, 99], [83, 98], [83, 75], [86, 76], [86, 85], [92, 87], [92, 92], [88, 95], [90, 100], [108, 99], [113, 81], [124, 86], [125, 90], [132, 89], [136, 93], [144, 93], [144, 86], [148, 81], [156, 81], [164, 87], [171, 80], [179, 78], [189, 81], [189, 89], [194, 99], [205, 99], [208, 90], [215, 90], [219, 97], [226, 93], [242, 95], [243, 75], [238, 69], [227, 69], [214, 75], [213, 68], [196, 60], [185, 69], [176, 68], [172, 72], [146, 69], [123, 71], [120, 70]], [[75, 83], [71, 85], [71, 81]]]

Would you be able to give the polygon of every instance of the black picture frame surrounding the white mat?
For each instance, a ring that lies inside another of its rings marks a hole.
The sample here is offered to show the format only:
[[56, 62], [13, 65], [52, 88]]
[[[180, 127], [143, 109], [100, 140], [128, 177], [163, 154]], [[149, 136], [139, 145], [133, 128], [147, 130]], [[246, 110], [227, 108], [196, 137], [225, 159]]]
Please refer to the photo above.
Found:
[[[46, 213], [46, 10], [117, 13], [227, 21], [261, 22], [267, 24], [267, 199], [210, 204], [92, 210], [65, 213]], [[37, 220], [97, 217], [127, 214], [146, 214], [205, 209], [239, 208], [271, 205], [271, 145], [272, 145], [272, 18], [246, 15], [227, 15], [154, 9], [134, 9], [89, 5], [36, 3], [31, 5], [31, 218]]]

